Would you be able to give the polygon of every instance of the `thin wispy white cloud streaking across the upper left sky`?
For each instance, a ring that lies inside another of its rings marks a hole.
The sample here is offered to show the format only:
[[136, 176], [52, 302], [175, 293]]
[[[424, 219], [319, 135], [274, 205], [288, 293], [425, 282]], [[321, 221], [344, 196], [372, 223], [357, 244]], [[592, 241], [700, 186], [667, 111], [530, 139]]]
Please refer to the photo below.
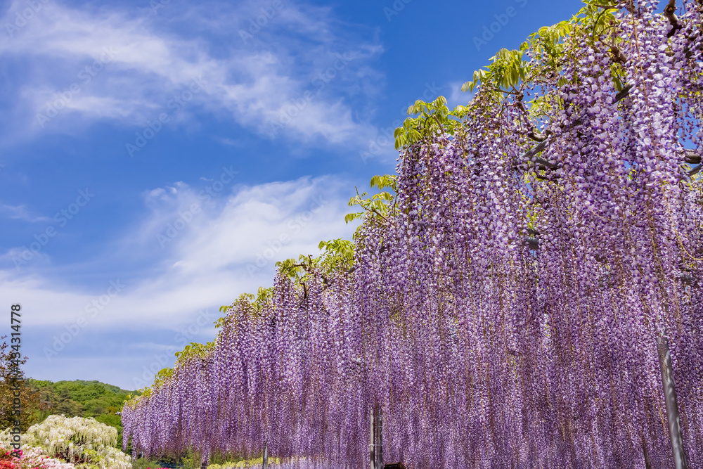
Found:
[[[15, 1], [1, 23], [12, 23], [24, 6]], [[153, 15], [150, 9], [47, 2], [13, 37], [0, 38], [0, 56], [22, 61], [28, 70], [14, 84], [20, 102], [13, 112], [22, 117], [15, 125], [30, 136], [75, 132], [96, 120], [141, 127], [160, 113], [186, 120], [206, 110], [269, 136], [278, 130], [304, 141], [368, 138], [372, 127], [354, 120], [344, 89], [355, 74], [373, 75], [365, 62], [380, 46], [344, 49], [349, 38], [330, 32], [328, 9], [292, 4], [244, 44], [236, 31], [256, 18], [254, 6], [260, 4], [170, 8]], [[198, 79], [202, 91], [174, 111], [174, 97]]]

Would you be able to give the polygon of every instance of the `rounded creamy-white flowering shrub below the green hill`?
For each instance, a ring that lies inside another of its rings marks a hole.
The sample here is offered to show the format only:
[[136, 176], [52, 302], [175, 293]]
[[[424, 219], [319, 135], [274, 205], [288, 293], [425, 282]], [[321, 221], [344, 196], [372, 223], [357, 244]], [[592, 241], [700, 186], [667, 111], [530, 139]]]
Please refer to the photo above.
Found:
[[[7, 430], [0, 432], [0, 444], [8, 437]], [[49, 416], [22, 435], [22, 449], [39, 448], [77, 469], [131, 469], [129, 456], [115, 444], [117, 430], [90, 417]]]

